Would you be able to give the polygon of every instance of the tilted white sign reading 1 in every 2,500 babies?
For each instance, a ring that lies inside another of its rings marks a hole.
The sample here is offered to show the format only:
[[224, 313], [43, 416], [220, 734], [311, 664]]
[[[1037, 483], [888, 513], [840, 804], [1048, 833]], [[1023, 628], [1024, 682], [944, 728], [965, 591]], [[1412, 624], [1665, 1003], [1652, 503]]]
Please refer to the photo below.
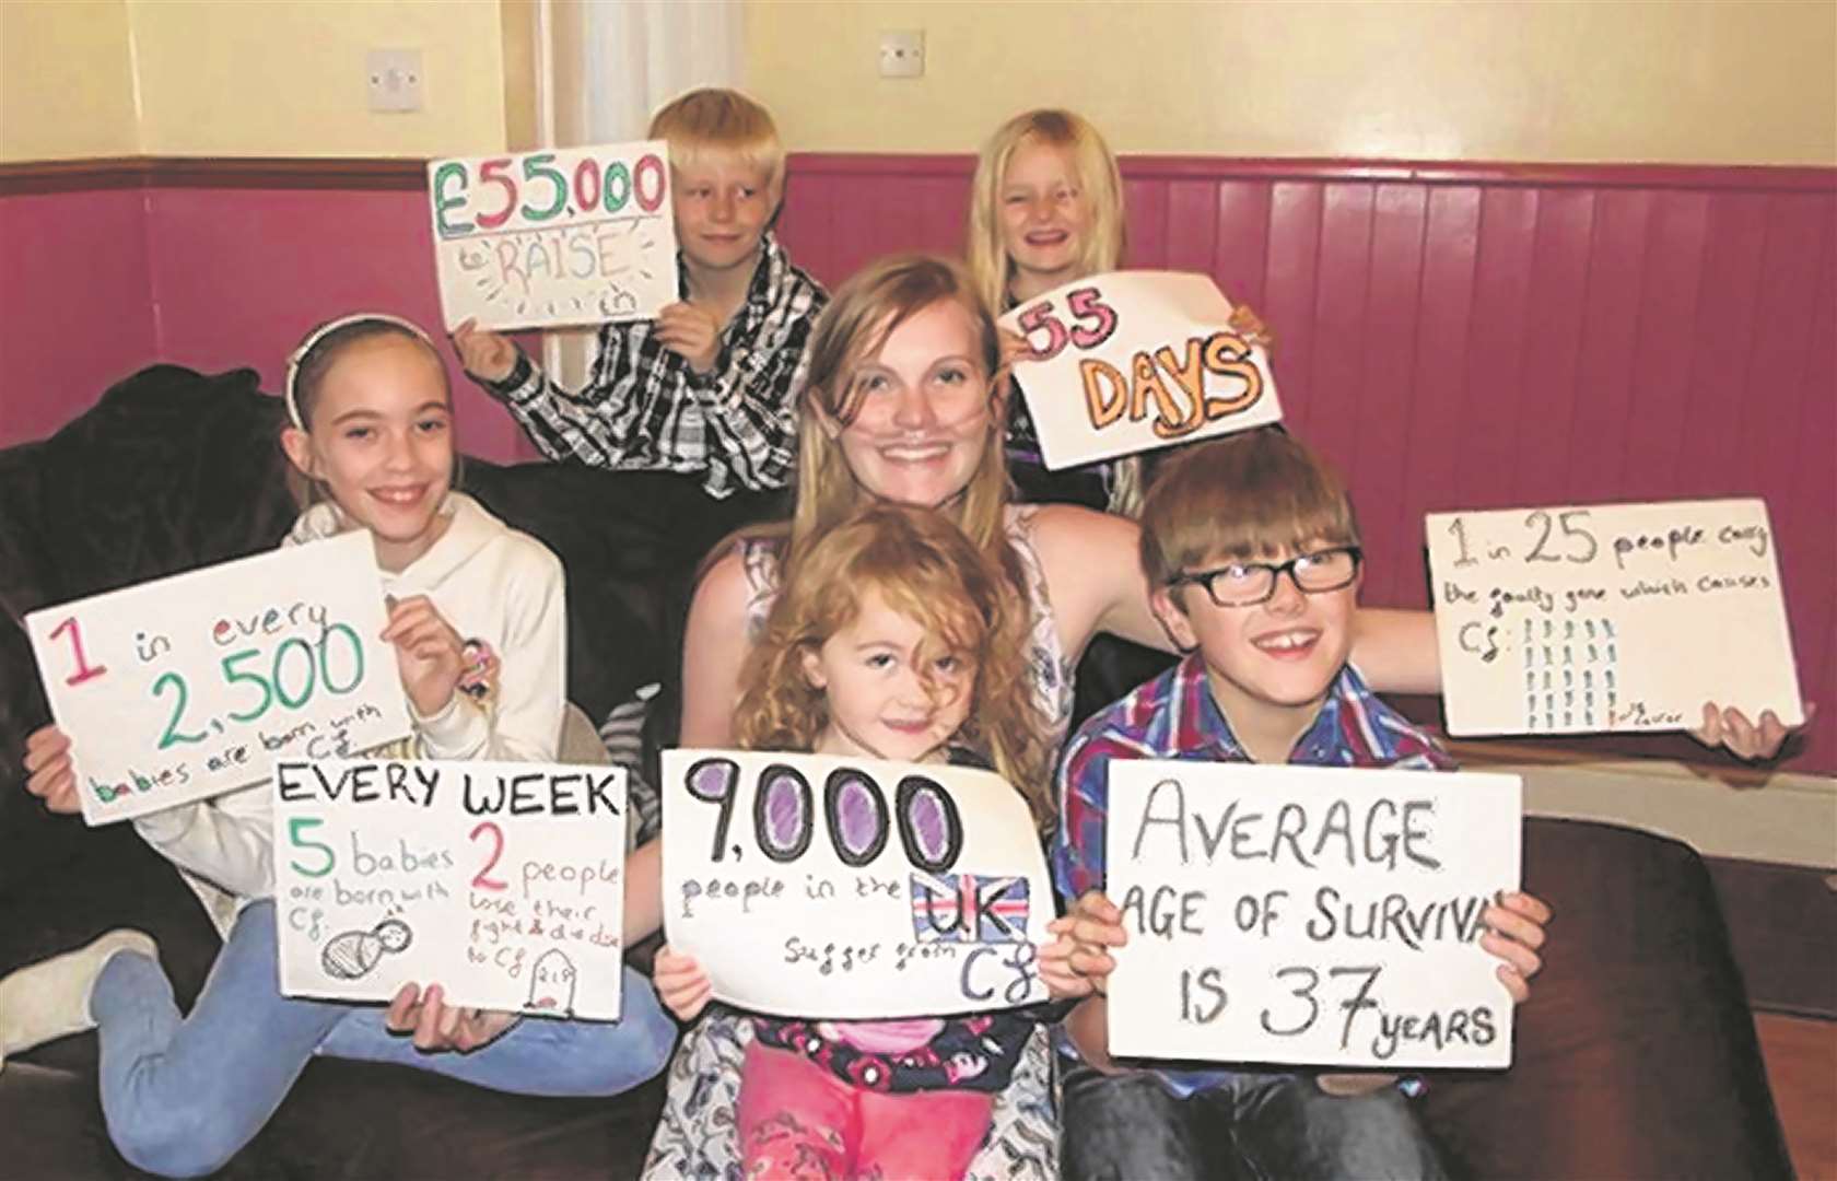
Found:
[[83, 819], [130, 819], [410, 733], [369, 533], [26, 615]]

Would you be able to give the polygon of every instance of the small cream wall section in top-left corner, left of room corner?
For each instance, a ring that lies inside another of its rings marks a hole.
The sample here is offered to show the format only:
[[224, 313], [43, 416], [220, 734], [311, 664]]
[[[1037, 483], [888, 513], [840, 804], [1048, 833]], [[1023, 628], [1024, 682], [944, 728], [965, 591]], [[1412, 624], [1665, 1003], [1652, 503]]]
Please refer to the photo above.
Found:
[[0, 2], [0, 162], [136, 151], [125, 0]]

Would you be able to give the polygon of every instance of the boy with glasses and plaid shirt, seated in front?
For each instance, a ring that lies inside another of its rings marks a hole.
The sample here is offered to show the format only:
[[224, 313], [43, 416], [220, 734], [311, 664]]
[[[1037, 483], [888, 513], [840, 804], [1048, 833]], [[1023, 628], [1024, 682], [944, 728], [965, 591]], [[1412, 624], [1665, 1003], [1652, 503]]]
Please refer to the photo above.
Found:
[[[1065, 1023], [1062, 1170], [1080, 1177], [1440, 1177], [1427, 1131], [1387, 1074], [1119, 1067], [1108, 1054], [1110, 948], [1126, 942], [1102, 894], [1113, 759], [1453, 770], [1429, 735], [1372, 696], [1347, 663], [1359, 536], [1339, 479], [1280, 428], [1187, 448], [1143, 509], [1155, 615], [1187, 659], [1086, 722], [1065, 748], [1053, 841], [1076, 900], [1073, 966], [1093, 995]], [[1539, 968], [1549, 907], [1506, 894], [1481, 946], [1516, 1001]]]

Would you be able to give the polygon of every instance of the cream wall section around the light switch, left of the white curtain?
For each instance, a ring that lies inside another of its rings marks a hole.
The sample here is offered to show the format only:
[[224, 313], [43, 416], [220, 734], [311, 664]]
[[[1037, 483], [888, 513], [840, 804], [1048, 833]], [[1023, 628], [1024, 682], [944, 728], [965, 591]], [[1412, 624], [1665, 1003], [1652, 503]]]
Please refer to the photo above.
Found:
[[[498, 0], [127, 0], [154, 156], [437, 156], [503, 147]], [[371, 114], [369, 50], [419, 48], [426, 107]]]

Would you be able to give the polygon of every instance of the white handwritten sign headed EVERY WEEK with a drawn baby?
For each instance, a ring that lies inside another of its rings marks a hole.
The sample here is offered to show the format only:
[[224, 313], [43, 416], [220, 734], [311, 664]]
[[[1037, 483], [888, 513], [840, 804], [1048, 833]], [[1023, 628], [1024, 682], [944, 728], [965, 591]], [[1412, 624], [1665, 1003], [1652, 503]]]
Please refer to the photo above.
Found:
[[619, 1018], [625, 771], [529, 762], [277, 762], [287, 995]]

